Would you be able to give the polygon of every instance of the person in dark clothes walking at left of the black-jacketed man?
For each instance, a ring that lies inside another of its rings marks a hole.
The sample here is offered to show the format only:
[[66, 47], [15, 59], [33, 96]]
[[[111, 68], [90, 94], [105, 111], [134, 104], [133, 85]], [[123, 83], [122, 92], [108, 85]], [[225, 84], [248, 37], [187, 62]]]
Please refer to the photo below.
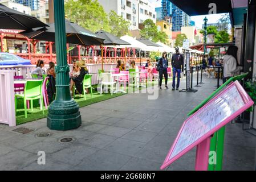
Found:
[[167, 73], [167, 68], [168, 68], [168, 59], [167, 59], [167, 52], [163, 52], [162, 53], [162, 57], [159, 59], [159, 63], [157, 65], [158, 67], [158, 71], [159, 71], [159, 86], [160, 86], [160, 90], [162, 90], [162, 75], [164, 75], [164, 79], [165, 79], [165, 88], [169, 89], [167, 86], [167, 82], [168, 82], [168, 73]]

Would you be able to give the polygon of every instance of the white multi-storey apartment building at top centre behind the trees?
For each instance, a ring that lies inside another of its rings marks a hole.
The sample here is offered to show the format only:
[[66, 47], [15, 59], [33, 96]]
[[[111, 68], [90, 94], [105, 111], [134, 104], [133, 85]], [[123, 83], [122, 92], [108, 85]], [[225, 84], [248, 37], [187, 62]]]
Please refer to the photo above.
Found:
[[156, 22], [155, 7], [148, 0], [98, 0], [106, 13], [111, 10], [131, 22], [130, 30], [137, 30], [146, 19]]

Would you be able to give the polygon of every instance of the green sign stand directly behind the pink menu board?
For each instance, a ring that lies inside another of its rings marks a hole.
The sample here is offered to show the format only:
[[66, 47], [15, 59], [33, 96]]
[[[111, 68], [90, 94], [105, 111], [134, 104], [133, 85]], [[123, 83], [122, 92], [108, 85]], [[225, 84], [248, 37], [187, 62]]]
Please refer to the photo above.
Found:
[[[224, 84], [220, 86], [216, 91], [214, 91], [208, 98], [202, 101], [198, 106], [196, 106], [192, 111], [189, 112], [188, 116], [194, 114], [197, 110], [199, 110], [202, 106], [204, 106], [207, 102], [209, 102], [214, 96], [221, 92], [223, 88], [229, 85], [231, 82], [236, 80], [242, 80], [248, 75], [248, 73], [238, 75], [235, 77], [231, 77], [227, 80]], [[217, 164], [209, 164], [208, 170], [209, 171], [221, 171], [222, 169], [222, 159], [223, 159], [223, 152], [224, 152], [224, 136], [225, 136], [225, 126], [214, 133], [211, 141], [210, 141], [210, 151], [215, 151], [216, 156], [216, 163]]]

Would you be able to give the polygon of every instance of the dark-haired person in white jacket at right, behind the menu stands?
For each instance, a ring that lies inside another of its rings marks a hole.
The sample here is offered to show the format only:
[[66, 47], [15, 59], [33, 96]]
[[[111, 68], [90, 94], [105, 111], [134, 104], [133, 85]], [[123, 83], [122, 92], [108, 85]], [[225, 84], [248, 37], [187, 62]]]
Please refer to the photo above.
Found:
[[238, 72], [241, 71], [241, 67], [238, 67], [237, 61], [237, 46], [229, 46], [227, 53], [223, 58], [222, 63], [224, 64], [224, 78], [223, 83], [225, 83], [229, 78], [239, 75]]

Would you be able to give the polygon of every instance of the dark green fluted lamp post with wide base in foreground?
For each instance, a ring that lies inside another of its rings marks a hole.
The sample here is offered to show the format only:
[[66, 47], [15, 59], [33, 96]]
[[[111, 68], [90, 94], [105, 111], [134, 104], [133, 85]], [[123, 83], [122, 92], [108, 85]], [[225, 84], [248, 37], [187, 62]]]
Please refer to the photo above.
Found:
[[57, 65], [56, 99], [48, 109], [47, 127], [51, 130], [71, 130], [81, 125], [78, 104], [70, 94], [70, 80], [67, 64], [66, 30], [64, 19], [64, 1], [54, 1], [55, 46]]

